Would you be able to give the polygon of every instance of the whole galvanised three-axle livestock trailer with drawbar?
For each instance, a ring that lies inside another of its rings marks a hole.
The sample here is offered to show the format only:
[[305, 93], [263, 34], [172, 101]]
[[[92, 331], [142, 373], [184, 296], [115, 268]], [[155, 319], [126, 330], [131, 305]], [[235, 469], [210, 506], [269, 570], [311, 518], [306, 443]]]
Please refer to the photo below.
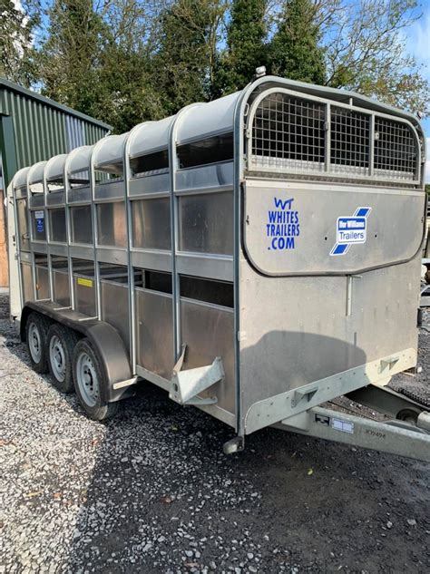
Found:
[[[20, 170], [11, 314], [95, 419], [145, 380], [235, 435], [278, 424], [430, 459], [414, 369], [425, 139], [356, 93], [259, 77]], [[322, 408], [339, 395], [389, 414]], [[415, 425], [405, 419], [415, 420]]]

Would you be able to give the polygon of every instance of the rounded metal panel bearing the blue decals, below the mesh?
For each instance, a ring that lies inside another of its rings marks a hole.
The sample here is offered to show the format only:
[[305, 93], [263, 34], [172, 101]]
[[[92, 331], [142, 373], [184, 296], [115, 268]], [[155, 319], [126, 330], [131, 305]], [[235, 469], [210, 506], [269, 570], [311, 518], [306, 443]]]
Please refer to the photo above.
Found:
[[[265, 276], [351, 275], [396, 265], [420, 250], [423, 200], [421, 190], [389, 186], [357, 190], [357, 184], [247, 180], [245, 250]], [[351, 219], [359, 207], [369, 209], [366, 218]], [[366, 238], [345, 244], [350, 245], [347, 254], [336, 256], [338, 216], [366, 225]]]

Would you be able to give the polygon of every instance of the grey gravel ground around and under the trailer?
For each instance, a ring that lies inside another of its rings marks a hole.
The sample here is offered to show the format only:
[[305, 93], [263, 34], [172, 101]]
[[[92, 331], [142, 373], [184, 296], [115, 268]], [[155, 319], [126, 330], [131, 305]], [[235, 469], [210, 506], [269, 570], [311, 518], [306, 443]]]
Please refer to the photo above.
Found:
[[430, 569], [428, 464], [275, 429], [225, 456], [226, 426], [149, 384], [94, 423], [30, 370], [5, 296], [0, 385], [0, 574]]

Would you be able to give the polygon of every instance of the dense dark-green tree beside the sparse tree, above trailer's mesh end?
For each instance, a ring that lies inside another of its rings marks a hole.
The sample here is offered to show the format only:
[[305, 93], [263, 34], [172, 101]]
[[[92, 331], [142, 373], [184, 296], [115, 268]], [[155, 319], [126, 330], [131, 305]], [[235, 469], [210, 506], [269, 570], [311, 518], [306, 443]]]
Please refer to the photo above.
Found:
[[288, 0], [269, 46], [269, 72], [309, 83], [324, 83], [318, 3]]

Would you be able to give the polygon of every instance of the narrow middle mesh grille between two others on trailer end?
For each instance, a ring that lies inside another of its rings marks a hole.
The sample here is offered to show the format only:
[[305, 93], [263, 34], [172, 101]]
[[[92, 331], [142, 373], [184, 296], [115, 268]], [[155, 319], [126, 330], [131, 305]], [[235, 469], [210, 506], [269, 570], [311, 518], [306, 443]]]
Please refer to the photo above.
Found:
[[331, 108], [330, 161], [333, 171], [368, 172], [370, 117], [345, 108]]

